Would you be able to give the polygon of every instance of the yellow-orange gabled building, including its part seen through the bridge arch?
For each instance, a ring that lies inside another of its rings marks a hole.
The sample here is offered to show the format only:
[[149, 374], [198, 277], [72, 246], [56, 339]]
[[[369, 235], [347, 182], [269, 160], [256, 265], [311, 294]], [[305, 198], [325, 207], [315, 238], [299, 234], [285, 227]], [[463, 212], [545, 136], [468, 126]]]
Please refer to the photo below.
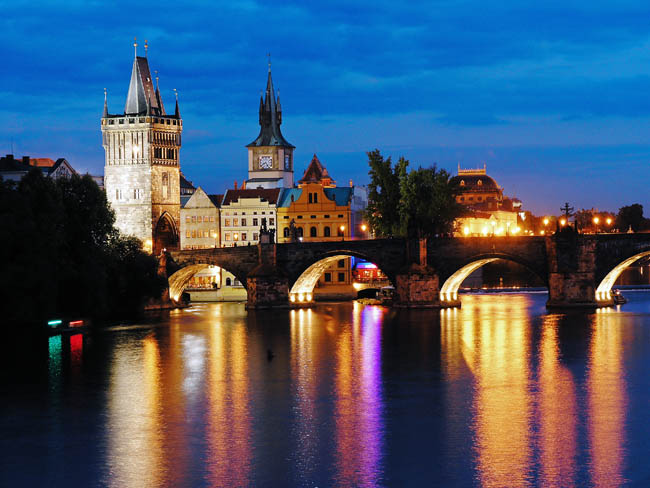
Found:
[[[298, 188], [286, 188], [278, 201], [278, 242], [336, 241], [351, 235], [352, 188], [336, 187], [316, 155]], [[352, 288], [350, 259], [341, 259], [319, 279], [314, 295], [349, 298]]]

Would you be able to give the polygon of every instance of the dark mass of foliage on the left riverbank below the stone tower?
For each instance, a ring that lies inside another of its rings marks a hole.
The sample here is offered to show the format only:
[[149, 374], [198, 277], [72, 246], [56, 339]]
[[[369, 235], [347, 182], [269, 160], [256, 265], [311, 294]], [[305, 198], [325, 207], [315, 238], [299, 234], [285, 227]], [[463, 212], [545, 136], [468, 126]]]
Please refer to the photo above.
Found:
[[115, 230], [90, 176], [52, 180], [38, 170], [0, 179], [0, 292], [7, 322], [136, 313], [164, 287], [157, 260]]

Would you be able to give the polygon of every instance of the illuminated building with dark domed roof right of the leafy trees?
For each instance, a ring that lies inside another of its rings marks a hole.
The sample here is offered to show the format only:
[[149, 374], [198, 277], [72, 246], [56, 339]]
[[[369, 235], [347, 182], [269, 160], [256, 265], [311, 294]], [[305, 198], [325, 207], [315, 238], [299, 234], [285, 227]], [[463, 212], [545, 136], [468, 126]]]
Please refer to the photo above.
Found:
[[450, 180], [458, 185], [456, 201], [465, 205], [469, 215], [456, 221], [456, 235], [499, 236], [521, 232], [517, 216], [521, 201], [503, 196], [503, 188], [487, 175], [485, 165], [479, 169], [461, 169]]

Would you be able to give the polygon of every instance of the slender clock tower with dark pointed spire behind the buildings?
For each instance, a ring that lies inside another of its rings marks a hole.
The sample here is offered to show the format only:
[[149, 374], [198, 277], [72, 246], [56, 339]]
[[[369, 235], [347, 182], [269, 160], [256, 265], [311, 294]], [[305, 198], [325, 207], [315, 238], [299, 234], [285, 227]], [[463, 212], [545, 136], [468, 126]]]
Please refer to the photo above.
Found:
[[248, 144], [247, 188], [292, 188], [293, 150], [282, 136], [282, 106], [276, 97], [271, 79], [271, 63], [266, 80], [266, 92], [260, 96], [260, 133]]

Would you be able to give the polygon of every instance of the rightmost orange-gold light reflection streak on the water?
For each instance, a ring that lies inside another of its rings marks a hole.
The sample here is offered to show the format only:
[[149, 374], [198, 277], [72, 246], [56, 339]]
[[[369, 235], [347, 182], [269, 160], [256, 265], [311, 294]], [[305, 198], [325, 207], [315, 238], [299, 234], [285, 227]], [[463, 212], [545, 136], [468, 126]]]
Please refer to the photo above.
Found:
[[613, 314], [595, 314], [589, 351], [589, 446], [593, 486], [621, 486], [625, 479], [623, 329]]

